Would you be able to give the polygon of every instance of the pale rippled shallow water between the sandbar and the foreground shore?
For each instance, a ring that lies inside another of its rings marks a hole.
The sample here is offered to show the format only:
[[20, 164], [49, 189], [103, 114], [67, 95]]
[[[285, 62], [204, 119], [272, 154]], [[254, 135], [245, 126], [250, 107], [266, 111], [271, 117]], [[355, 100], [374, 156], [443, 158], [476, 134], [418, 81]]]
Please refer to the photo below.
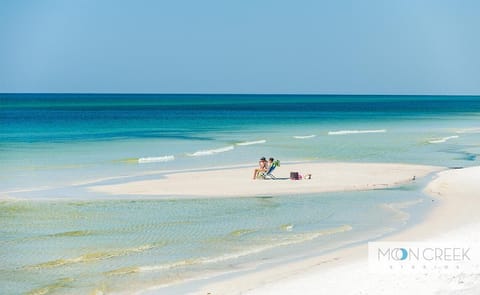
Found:
[[408, 190], [205, 200], [4, 201], [2, 294], [41, 294], [45, 288], [60, 294], [136, 290], [235, 265], [241, 269], [248, 262], [295, 257], [304, 253], [298, 247], [306, 245], [321, 252], [333, 242], [346, 245], [402, 228], [408, 213], [385, 205], [400, 200], [421, 204], [417, 211], [428, 207], [424, 196]]

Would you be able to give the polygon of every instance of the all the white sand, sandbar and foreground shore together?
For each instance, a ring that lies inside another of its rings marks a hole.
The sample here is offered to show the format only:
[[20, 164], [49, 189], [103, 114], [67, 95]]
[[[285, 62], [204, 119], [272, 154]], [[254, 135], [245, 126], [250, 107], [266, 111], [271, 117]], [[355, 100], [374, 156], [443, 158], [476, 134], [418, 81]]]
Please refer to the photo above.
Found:
[[[313, 179], [252, 180], [252, 168], [236, 167], [172, 172], [160, 179], [87, 185], [86, 188], [112, 199], [117, 195], [130, 199], [279, 196], [395, 187], [410, 182], [413, 176], [420, 179], [438, 172], [425, 189], [438, 206], [419, 224], [383, 240], [480, 240], [480, 199], [477, 197], [480, 167], [445, 170], [410, 164], [290, 163], [282, 165], [276, 174], [287, 177], [295, 170], [312, 173]], [[465, 290], [462, 294], [480, 294], [480, 275], [463, 276], [463, 283], [448, 276], [372, 277], [368, 273], [366, 255], [366, 245], [341, 249], [275, 269], [217, 281], [194, 294], [449, 294], [457, 289]], [[349, 283], [342, 284], [340, 277], [342, 282]], [[444, 283], [445, 280], [449, 283]], [[144, 291], [139, 294], [158, 294], [155, 289]]]

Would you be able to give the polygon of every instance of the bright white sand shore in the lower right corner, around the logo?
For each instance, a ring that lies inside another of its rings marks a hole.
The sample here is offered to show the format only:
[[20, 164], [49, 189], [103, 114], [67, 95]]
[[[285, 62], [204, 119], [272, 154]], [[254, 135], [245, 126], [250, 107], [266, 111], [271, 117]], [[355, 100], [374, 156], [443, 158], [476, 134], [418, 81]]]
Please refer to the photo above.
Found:
[[[480, 167], [442, 171], [426, 188], [438, 206], [383, 241], [480, 242]], [[372, 274], [367, 245], [218, 282], [195, 294], [480, 294], [478, 274]]]

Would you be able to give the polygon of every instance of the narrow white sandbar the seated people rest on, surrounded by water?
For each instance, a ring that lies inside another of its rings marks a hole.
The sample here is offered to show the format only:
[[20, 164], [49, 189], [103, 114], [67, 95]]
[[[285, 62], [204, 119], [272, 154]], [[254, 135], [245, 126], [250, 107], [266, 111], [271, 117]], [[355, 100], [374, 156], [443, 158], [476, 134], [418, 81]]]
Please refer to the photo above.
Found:
[[[356, 191], [386, 188], [417, 179], [442, 168], [384, 163], [294, 163], [278, 167], [277, 180], [253, 180], [251, 168], [217, 169], [165, 174], [163, 178], [92, 185], [110, 195], [166, 197], [252, 197]], [[291, 171], [312, 174], [310, 180], [289, 180]]]

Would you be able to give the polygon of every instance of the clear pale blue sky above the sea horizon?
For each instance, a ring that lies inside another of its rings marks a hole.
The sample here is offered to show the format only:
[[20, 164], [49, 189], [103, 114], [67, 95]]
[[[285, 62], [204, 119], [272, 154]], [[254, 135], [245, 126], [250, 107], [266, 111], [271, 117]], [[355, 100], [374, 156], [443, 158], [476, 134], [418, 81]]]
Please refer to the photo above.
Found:
[[480, 1], [0, 0], [0, 93], [480, 94]]

